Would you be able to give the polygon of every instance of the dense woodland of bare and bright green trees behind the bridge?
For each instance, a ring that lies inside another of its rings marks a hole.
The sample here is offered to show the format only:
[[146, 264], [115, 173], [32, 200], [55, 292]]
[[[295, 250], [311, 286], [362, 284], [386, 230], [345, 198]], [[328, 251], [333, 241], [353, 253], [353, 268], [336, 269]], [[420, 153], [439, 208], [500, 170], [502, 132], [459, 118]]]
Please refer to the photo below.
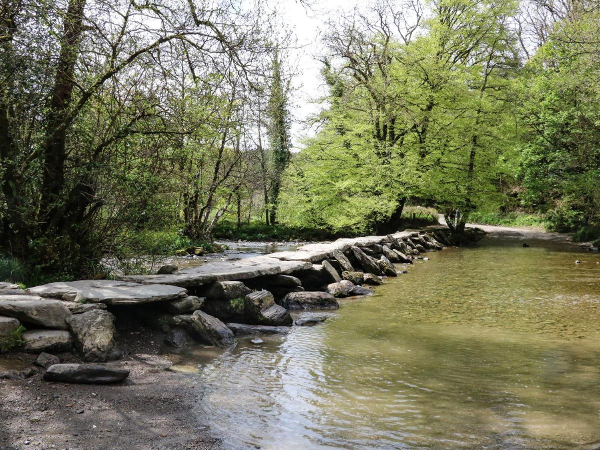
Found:
[[0, 0], [5, 267], [93, 276], [248, 224], [385, 232], [416, 205], [598, 239], [600, 2], [364, 3], [325, 24], [328, 92], [292, 147], [302, 68], [269, 2]]

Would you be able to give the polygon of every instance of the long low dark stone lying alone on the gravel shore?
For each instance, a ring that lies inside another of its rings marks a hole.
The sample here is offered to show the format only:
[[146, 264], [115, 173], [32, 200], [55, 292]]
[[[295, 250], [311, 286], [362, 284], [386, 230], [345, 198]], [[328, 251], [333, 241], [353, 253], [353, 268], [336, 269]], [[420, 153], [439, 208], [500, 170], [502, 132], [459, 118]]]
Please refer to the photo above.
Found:
[[100, 364], [54, 364], [44, 373], [44, 380], [64, 383], [109, 384], [129, 376], [126, 369]]

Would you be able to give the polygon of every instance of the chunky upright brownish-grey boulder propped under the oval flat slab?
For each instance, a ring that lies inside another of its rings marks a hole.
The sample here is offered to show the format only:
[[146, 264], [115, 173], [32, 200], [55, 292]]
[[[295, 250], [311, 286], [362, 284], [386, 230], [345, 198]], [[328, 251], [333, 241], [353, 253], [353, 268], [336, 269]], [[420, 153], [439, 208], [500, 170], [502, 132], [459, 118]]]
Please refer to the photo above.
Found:
[[104, 362], [121, 357], [116, 350], [115, 316], [108, 311], [96, 309], [75, 314], [67, 323], [84, 361]]

